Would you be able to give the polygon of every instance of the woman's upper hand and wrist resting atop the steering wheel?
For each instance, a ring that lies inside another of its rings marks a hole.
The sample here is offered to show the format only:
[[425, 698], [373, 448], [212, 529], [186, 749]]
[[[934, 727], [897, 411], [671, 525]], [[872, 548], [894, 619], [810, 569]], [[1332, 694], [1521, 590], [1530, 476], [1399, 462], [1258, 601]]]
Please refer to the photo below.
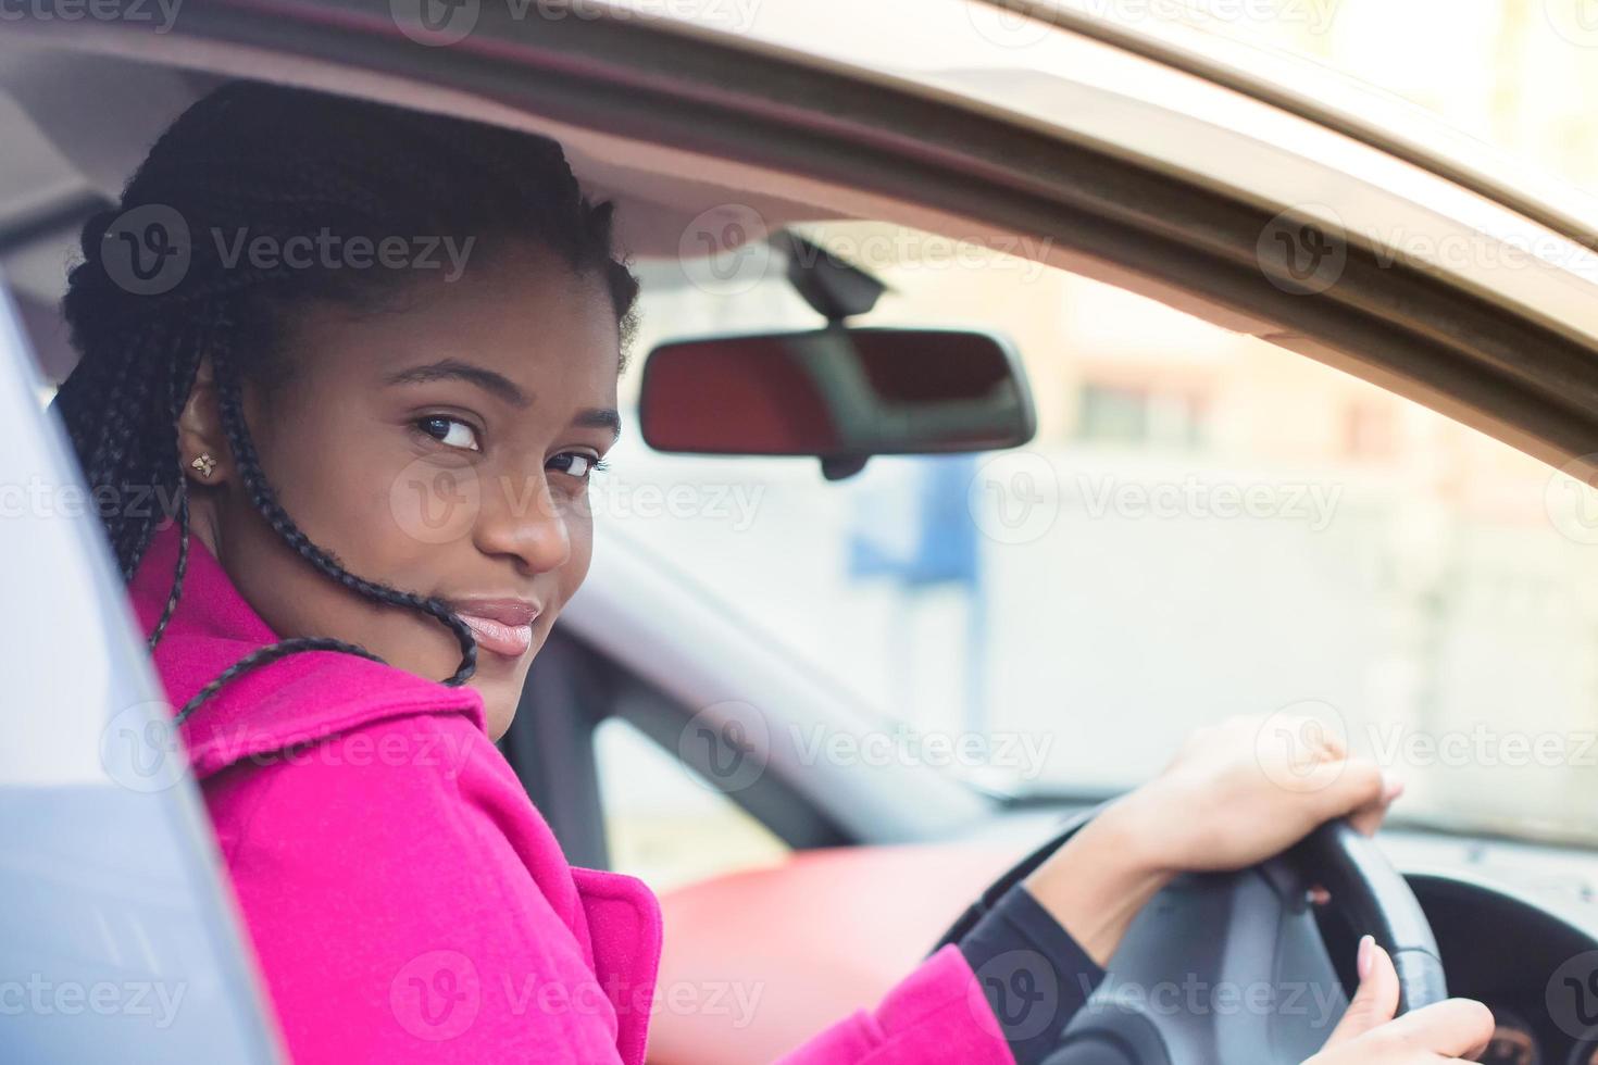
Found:
[[1314, 719], [1234, 717], [1195, 731], [1160, 776], [1085, 824], [1026, 889], [1104, 964], [1176, 873], [1254, 865], [1334, 818], [1374, 832], [1400, 790]]

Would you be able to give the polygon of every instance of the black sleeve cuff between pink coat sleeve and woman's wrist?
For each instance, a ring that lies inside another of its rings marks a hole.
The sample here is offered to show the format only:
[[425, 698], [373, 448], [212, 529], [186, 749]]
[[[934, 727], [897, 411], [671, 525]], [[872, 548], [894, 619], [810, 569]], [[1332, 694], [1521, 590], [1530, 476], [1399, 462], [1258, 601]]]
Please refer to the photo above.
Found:
[[1005, 891], [959, 945], [1016, 1065], [1048, 1057], [1104, 979], [1104, 969], [1023, 885]]

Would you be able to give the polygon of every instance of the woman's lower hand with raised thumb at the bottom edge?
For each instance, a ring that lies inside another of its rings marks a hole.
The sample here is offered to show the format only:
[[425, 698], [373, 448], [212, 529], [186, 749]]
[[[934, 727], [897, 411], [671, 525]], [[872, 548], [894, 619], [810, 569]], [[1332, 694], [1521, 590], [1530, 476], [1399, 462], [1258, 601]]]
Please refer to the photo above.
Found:
[[1387, 952], [1360, 940], [1360, 990], [1325, 1049], [1304, 1065], [1430, 1065], [1477, 1060], [1493, 1039], [1493, 1014], [1478, 1001], [1449, 998], [1393, 1020], [1398, 974]]

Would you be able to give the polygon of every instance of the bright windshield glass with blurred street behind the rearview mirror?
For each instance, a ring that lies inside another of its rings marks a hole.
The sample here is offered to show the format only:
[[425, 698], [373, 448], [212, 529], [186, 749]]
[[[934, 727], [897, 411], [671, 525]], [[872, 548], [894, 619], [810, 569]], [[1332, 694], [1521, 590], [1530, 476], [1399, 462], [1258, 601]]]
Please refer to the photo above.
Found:
[[[1408, 782], [1409, 818], [1598, 841], [1585, 485], [1021, 247], [807, 233], [888, 283], [865, 324], [1007, 334], [1037, 439], [834, 484], [631, 436], [594, 492], [602, 527], [869, 707], [884, 744], [857, 757], [1095, 795], [1205, 722], [1309, 711]], [[780, 270], [641, 273], [639, 351], [818, 324]]]

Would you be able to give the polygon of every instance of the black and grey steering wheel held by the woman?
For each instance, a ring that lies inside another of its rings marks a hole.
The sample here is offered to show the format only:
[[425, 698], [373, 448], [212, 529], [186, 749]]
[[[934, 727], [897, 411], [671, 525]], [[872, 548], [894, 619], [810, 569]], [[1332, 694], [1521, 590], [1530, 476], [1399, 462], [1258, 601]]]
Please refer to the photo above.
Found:
[[[1096, 813], [994, 881], [940, 947]], [[1331, 893], [1326, 907], [1310, 904], [1312, 885]], [[1387, 948], [1400, 1014], [1448, 998], [1432, 926], [1409, 885], [1369, 838], [1333, 821], [1253, 869], [1184, 875], [1157, 894], [1045, 1065], [1298, 1065], [1320, 1051], [1347, 1006], [1317, 910]]]

